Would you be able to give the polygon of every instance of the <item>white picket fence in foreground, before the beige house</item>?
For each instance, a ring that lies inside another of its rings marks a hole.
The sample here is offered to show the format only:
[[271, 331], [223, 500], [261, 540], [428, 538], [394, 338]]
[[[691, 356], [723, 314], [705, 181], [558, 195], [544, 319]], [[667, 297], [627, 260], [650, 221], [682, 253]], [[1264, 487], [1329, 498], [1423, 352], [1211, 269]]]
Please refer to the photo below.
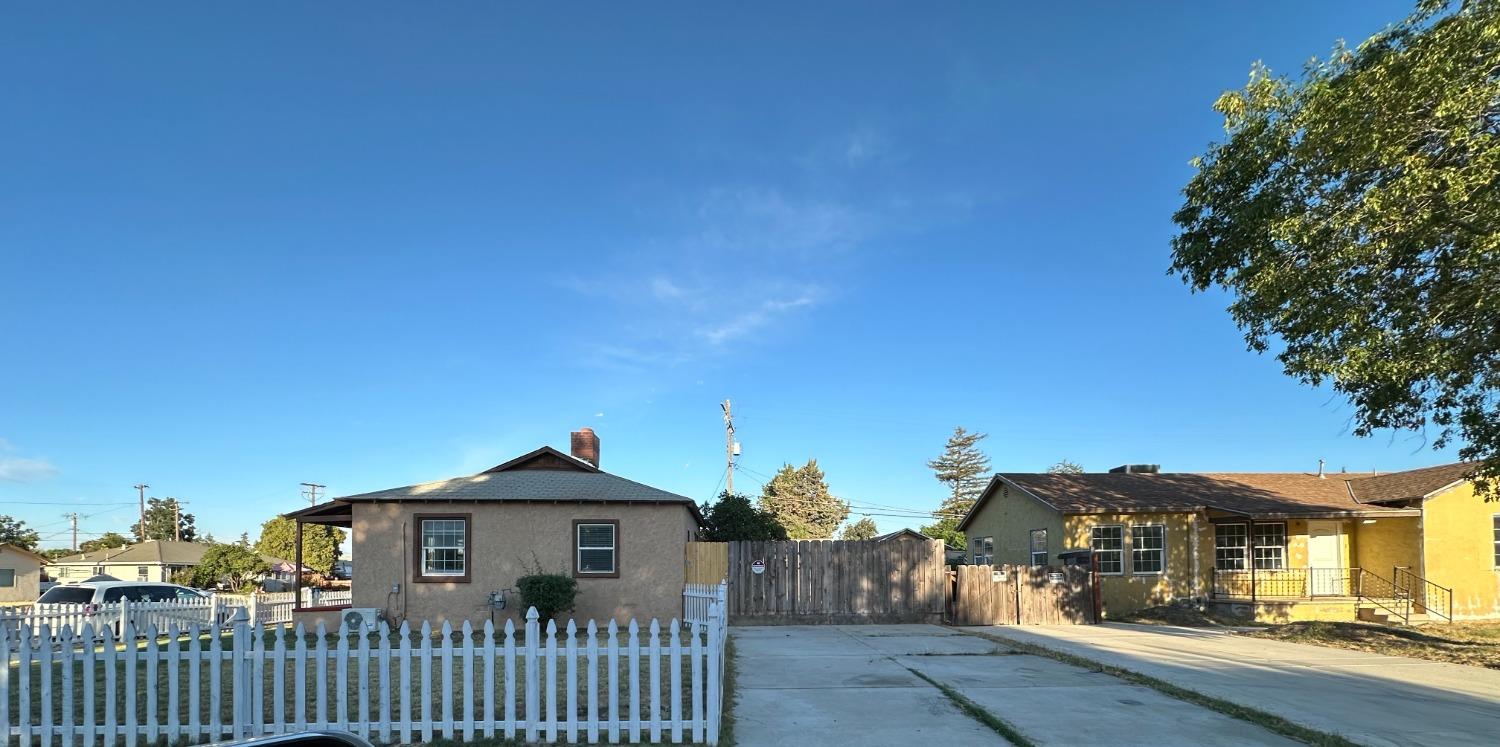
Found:
[[[0, 734], [20, 747], [136, 747], [306, 729], [375, 741], [717, 744], [726, 628], [592, 621], [476, 632], [170, 626], [116, 638], [22, 628], [0, 638]], [[162, 634], [158, 634], [162, 633]], [[123, 640], [123, 644], [122, 644]]]

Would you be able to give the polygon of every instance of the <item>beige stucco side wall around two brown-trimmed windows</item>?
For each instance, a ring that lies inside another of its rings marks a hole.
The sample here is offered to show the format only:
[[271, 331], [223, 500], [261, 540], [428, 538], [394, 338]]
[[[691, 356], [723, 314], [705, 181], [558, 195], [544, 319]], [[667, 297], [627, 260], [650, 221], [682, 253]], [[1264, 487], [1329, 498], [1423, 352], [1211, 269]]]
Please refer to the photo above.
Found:
[[[468, 556], [471, 580], [412, 582], [412, 516], [472, 513]], [[508, 606], [495, 614], [504, 624], [525, 614], [514, 594], [516, 579], [540, 562], [543, 570], [573, 573], [573, 520], [618, 519], [618, 579], [580, 578], [579, 621], [652, 616], [663, 622], [682, 614], [684, 550], [696, 531], [678, 504], [550, 504], [550, 502], [378, 502], [354, 504], [352, 552], [356, 608], [384, 609], [387, 616], [434, 626], [446, 620], [476, 624], [490, 620], [489, 592], [512, 590]], [[400, 594], [390, 594], [399, 584]], [[568, 615], [562, 615], [566, 620]]]

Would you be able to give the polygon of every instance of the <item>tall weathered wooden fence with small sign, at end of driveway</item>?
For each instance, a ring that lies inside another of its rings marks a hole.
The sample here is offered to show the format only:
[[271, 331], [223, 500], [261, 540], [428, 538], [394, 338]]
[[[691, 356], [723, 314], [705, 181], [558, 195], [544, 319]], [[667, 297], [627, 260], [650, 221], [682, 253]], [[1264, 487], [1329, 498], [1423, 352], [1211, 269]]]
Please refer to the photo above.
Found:
[[[939, 540], [726, 544], [730, 622], [942, 622], [946, 579]], [[756, 561], [764, 572], [754, 572]]]

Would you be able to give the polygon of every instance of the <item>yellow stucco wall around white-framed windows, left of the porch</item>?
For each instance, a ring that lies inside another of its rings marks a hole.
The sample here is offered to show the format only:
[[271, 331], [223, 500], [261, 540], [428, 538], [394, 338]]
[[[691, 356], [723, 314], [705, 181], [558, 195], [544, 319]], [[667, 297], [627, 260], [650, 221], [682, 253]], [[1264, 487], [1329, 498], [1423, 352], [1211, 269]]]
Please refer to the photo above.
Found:
[[[1191, 513], [1131, 513], [1068, 516], [1065, 524], [1070, 548], [1088, 548], [1094, 526], [1124, 526], [1124, 573], [1100, 574], [1100, 596], [1106, 616], [1166, 604], [1176, 598], [1208, 596], [1208, 573], [1214, 567], [1214, 528], [1206, 519]], [[1144, 524], [1160, 524], [1167, 528], [1162, 573], [1131, 572], [1130, 528]], [[1197, 562], [1194, 562], [1194, 534], [1197, 534]]]

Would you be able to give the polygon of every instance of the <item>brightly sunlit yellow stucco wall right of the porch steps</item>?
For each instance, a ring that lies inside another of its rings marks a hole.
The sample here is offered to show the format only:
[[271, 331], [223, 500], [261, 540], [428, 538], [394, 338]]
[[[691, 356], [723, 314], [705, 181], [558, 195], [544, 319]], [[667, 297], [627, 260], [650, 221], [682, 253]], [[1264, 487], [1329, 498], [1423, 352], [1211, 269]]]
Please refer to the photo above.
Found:
[[1422, 576], [1454, 590], [1455, 618], [1500, 616], [1500, 572], [1494, 561], [1494, 516], [1500, 501], [1474, 495], [1472, 483], [1422, 506]]

